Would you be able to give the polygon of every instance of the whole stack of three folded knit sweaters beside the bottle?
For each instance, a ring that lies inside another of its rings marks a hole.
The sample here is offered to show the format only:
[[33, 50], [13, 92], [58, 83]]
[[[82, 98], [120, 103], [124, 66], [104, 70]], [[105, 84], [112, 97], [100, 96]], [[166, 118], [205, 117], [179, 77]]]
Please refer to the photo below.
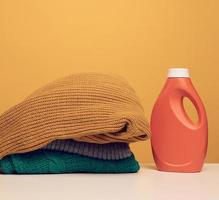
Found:
[[0, 116], [0, 171], [133, 173], [139, 165], [129, 143], [149, 136], [143, 107], [125, 80], [75, 74]]

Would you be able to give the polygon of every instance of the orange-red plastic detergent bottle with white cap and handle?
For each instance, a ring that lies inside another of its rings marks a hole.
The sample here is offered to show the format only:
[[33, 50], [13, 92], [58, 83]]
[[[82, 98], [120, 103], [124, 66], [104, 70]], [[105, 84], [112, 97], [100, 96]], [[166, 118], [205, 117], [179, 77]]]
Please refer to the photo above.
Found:
[[[183, 99], [195, 106], [198, 122], [187, 115]], [[168, 172], [200, 172], [208, 143], [205, 108], [196, 92], [189, 71], [172, 68], [151, 116], [151, 146], [158, 170]]]

